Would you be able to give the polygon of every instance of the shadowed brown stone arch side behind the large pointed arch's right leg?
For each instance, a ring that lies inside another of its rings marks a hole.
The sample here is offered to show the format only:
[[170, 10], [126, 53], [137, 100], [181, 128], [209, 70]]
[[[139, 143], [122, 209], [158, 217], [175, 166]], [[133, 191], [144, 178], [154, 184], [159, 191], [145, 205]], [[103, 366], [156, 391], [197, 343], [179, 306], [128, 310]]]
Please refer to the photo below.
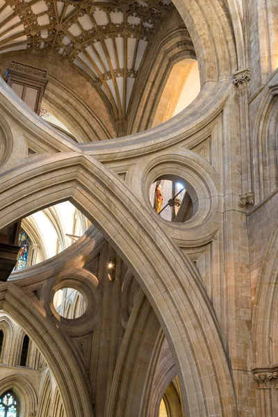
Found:
[[[138, 416], [149, 416], [149, 400], [163, 338], [154, 310], [141, 290], [124, 333], [106, 417], [132, 416], [133, 410], [137, 410]], [[122, 380], [126, 381], [125, 385], [120, 383]]]

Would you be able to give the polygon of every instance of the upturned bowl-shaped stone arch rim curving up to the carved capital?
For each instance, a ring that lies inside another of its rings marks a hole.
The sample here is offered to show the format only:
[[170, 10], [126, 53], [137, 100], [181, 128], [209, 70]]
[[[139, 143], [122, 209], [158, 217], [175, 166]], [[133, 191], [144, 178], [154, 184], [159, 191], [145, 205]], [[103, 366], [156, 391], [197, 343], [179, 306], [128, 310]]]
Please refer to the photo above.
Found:
[[[230, 80], [223, 79], [218, 83], [206, 83], [195, 99], [194, 103], [176, 117], [168, 120], [161, 126], [156, 126], [149, 131], [137, 133], [131, 139], [117, 138], [113, 140], [113, 147], [109, 141], [99, 141], [94, 143], [76, 144], [69, 138], [56, 131], [46, 122], [41, 120], [30, 108], [19, 104], [17, 96], [13, 90], [0, 78], [1, 94], [7, 100], [6, 111], [8, 115], [17, 118], [19, 126], [29, 129], [37, 134], [39, 138], [47, 141], [54, 149], [65, 152], [86, 152], [93, 155], [100, 161], [111, 161], [116, 158], [129, 158], [136, 155], [146, 154], [158, 149], [163, 149], [180, 142], [184, 138], [189, 138], [196, 131], [204, 128], [215, 120], [225, 107], [227, 97], [234, 85]], [[202, 105], [201, 105], [202, 104]], [[186, 123], [185, 123], [186, 120]], [[20, 144], [19, 144], [20, 145]], [[60, 151], [59, 151], [60, 152]], [[15, 159], [21, 159], [20, 152], [17, 152]], [[11, 156], [13, 158], [13, 154]], [[32, 156], [35, 161], [34, 156]]]

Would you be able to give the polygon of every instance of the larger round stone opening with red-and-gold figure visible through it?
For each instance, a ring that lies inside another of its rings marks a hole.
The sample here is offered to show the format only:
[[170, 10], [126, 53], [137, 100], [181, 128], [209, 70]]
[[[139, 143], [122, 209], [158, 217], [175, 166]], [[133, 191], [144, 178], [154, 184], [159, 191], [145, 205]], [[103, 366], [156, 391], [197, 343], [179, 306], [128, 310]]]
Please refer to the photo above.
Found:
[[196, 206], [190, 197], [186, 181], [176, 176], [157, 179], [149, 190], [154, 211], [170, 222], [186, 222], [193, 217]]

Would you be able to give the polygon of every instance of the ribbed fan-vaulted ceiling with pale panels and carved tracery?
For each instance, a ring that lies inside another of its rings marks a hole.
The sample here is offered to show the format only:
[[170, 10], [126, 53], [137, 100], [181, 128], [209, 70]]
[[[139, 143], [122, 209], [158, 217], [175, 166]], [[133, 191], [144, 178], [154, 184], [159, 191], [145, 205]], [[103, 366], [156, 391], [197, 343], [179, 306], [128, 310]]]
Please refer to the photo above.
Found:
[[147, 44], [171, 0], [65, 1], [0, 0], [0, 54], [51, 51], [85, 72], [115, 119], [124, 120]]

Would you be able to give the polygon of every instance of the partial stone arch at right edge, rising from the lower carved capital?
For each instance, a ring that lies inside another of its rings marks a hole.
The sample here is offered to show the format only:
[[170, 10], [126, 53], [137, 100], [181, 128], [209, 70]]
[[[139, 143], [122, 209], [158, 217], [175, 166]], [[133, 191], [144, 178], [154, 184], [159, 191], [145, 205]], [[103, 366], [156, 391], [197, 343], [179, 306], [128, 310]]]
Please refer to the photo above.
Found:
[[270, 236], [259, 277], [252, 339], [256, 368], [278, 362], [278, 221]]

